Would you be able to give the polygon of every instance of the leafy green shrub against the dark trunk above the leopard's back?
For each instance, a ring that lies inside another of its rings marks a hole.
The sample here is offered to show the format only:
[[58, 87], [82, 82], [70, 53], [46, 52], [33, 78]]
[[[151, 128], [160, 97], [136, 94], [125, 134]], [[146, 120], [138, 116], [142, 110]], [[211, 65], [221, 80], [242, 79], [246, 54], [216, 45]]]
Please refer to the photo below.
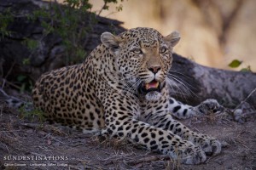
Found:
[[[121, 0], [122, 1], [122, 0]], [[109, 3], [118, 3], [118, 0], [104, 0], [101, 9], [108, 9]], [[89, 0], [65, 0], [63, 4], [51, 3], [49, 10], [42, 8], [34, 11], [30, 20], [40, 20], [44, 27], [44, 36], [55, 33], [62, 38], [66, 47], [66, 65], [73, 65], [81, 62], [86, 57], [84, 42], [86, 35], [92, 31], [96, 24], [96, 15], [89, 14], [92, 5]], [[120, 11], [122, 7], [117, 8]], [[90, 20], [85, 26], [84, 20]], [[27, 46], [34, 48], [35, 44], [27, 43]]]

